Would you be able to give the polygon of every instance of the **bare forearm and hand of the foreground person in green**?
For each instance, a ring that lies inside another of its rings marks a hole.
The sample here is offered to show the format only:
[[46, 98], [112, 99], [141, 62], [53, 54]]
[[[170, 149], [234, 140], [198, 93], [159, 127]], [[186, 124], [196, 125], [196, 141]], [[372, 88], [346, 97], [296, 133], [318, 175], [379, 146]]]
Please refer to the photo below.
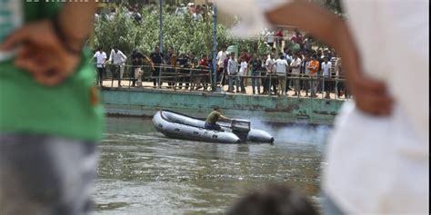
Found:
[[21, 45], [15, 57], [16, 67], [32, 73], [38, 83], [61, 83], [75, 72], [81, 60], [82, 46], [92, 30], [95, 6], [95, 1], [67, 2], [57, 19], [23, 25], [8, 35], [0, 49]]

